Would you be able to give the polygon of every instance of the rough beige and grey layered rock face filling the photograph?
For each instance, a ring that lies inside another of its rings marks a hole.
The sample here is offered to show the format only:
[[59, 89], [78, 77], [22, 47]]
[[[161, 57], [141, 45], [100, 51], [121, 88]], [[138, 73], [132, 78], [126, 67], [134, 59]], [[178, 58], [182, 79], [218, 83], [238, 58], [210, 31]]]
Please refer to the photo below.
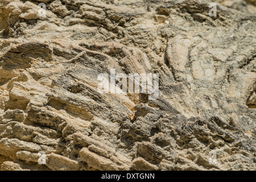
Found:
[[255, 1], [210, 3], [0, 0], [0, 169], [255, 170]]

